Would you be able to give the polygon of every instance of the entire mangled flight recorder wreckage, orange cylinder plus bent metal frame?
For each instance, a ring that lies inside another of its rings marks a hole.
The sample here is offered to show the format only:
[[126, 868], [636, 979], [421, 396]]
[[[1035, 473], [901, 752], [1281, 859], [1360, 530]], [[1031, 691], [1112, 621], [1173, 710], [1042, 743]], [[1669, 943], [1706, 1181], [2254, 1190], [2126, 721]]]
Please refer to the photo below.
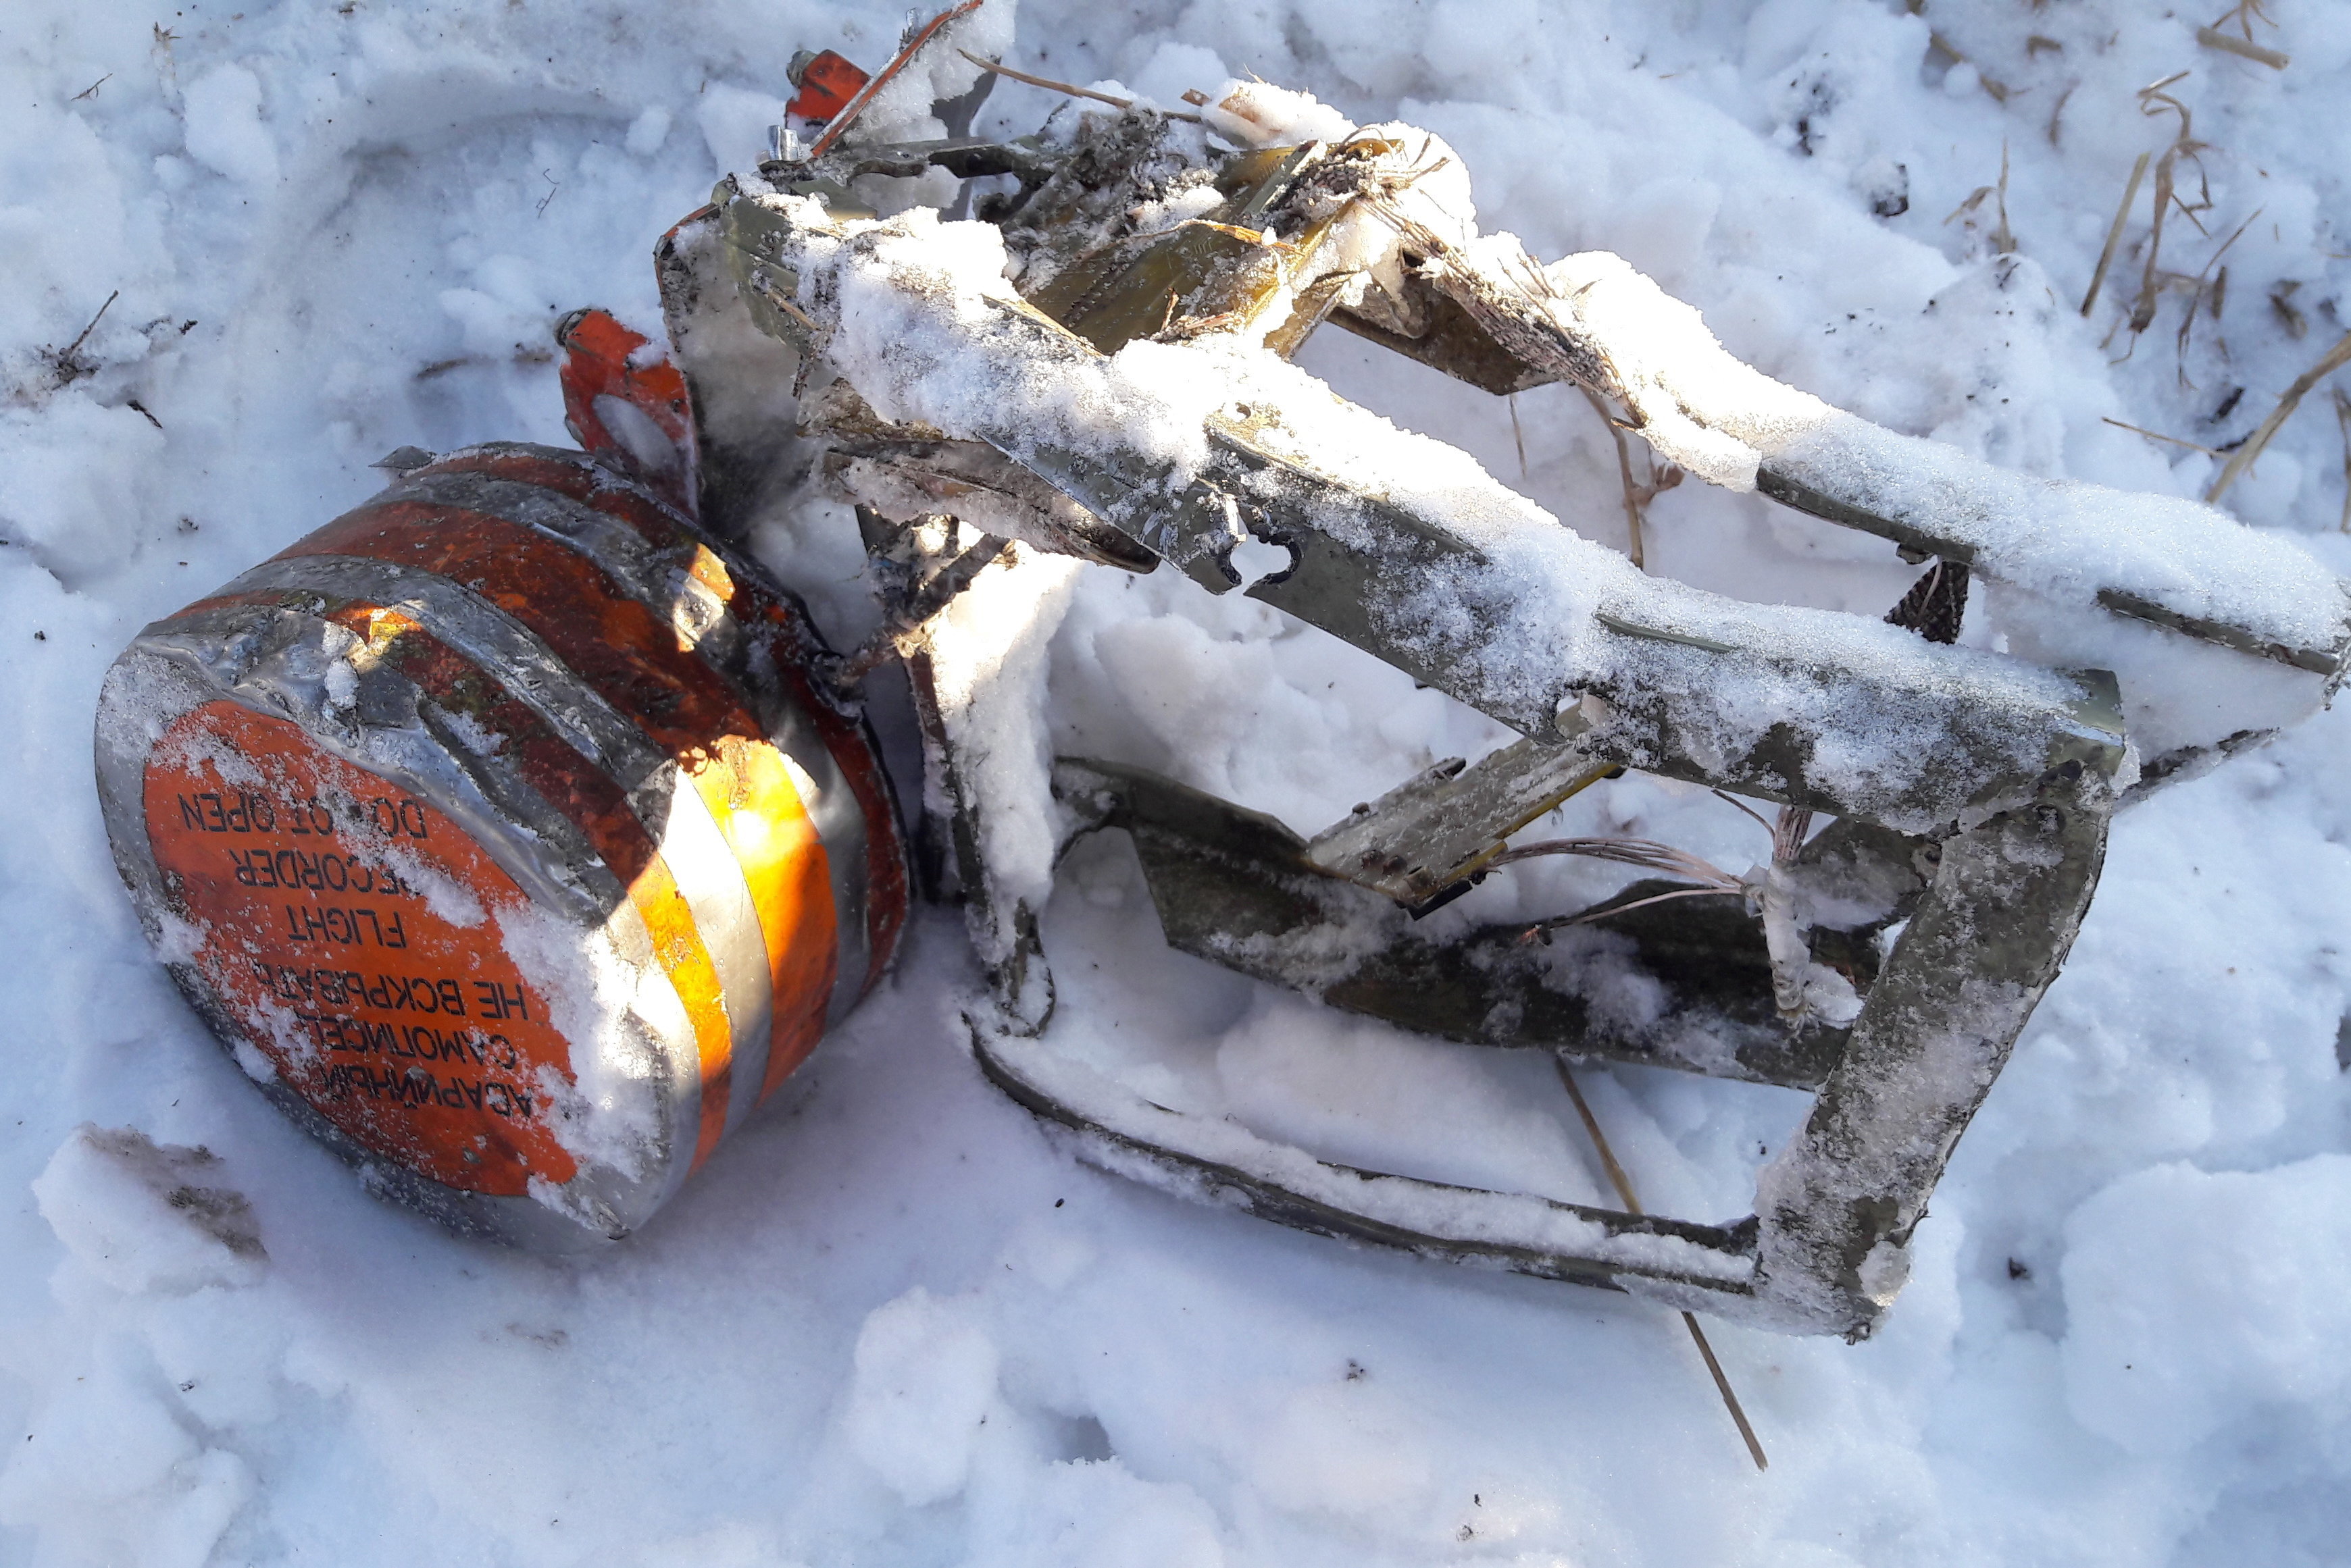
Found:
[[[395, 454], [379, 498], [125, 651], [101, 795], [190, 1001], [374, 1187], [508, 1241], [621, 1237], [884, 971], [910, 856], [860, 693], [905, 670], [905, 804], [992, 978], [978, 1065], [1086, 1159], [1864, 1335], [2111, 816], [2320, 708], [2344, 585], [2210, 508], [2022, 477], [1780, 386], [1620, 259], [1476, 233], [1467, 169], [1408, 125], [1227, 85], [957, 134], [992, 80], [957, 63], [971, 9], [872, 80], [802, 63], [804, 118], [658, 244], [668, 353], [567, 317], [585, 451]], [[870, 136], [891, 92], [945, 99], [950, 134]], [[907, 190], [936, 205], [877, 216]], [[1573, 383], [1681, 470], [1923, 574], [1886, 621], [1648, 576], [1293, 367], [1328, 329], [1488, 393]], [[856, 503], [884, 621], [849, 654], [741, 552], [802, 482]], [[1046, 780], [997, 738], [1037, 679], [1006, 651], [1079, 564], [1248, 595], [1519, 738], [1312, 837], [1117, 762]], [[1970, 581], [2027, 607], [2031, 646], [1956, 644]], [[2165, 698], [2184, 686], [2224, 696]], [[1514, 846], [1625, 769], [1777, 806], [1768, 865]], [[1813, 1091], [1810, 1119], [1719, 1225], [1349, 1168], [1157, 1105], [1051, 1027], [1037, 914], [1105, 830], [1183, 952], [1465, 1046]], [[1533, 853], [1660, 875], [1427, 936]], [[1599, 1006], [1592, 943], [1660, 1006]]]

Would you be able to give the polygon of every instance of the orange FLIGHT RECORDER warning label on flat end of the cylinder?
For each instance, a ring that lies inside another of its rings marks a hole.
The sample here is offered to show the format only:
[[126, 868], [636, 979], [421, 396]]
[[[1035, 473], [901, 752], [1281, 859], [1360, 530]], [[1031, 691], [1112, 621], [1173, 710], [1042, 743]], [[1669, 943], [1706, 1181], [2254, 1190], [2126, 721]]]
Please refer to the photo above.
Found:
[[527, 900], [456, 823], [235, 703], [148, 755], [146, 823], [195, 966], [327, 1121], [465, 1192], [571, 1180], [569, 1048], [498, 940]]

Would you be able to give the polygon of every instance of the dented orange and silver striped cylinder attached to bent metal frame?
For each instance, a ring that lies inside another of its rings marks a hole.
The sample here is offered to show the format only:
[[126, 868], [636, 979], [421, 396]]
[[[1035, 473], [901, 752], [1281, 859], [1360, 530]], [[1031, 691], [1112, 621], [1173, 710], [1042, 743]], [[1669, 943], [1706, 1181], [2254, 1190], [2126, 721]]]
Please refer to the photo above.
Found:
[[524, 1246], [621, 1237], [905, 922], [823, 656], [651, 489], [475, 447], [125, 649], [106, 827], [181, 990], [376, 1190]]

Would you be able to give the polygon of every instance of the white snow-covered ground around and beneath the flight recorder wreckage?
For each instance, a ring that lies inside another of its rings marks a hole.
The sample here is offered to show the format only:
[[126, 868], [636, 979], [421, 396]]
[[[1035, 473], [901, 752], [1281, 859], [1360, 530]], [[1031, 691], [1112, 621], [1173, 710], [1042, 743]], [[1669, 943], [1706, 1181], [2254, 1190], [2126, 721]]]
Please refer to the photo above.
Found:
[[[1255, 71], [1420, 122], [1467, 160], [1488, 228], [1538, 256], [1625, 254], [1784, 381], [2031, 473], [2201, 494], [2196, 447], [2243, 437], [2351, 327], [2351, 7], [2269, 0], [2255, 38], [2283, 71], [2158, 0], [1918, 9], [1025, 0], [1011, 61], [1161, 101]], [[1714, 1328], [1768, 1474], [1672, 1314], [1072, 1164], [969, 1063], [978, 978], [947, 912], [917, 919], [896, 980], [781, 1105], [597, 1258], [451, 1241], [263, 1105], [115, 882], [99, 675], [139, 625], [367, 496], [388, 449], [560, 442], [552, 320], [656, 320], [651, 240], [757, 155], [790, 54], [872, 66], [898, 26], [806, 0], [9, 0], [0, 1563], [2351, 1561], [2342, 715], [2118, 820], [1886, 1331]], [[2177, 110], [2142, 113], [2182, 71]], [[1053, 103], [1006, 85], [980, 125], [1023, 132]], [[2229, 282], [2184, 339], [2191, 294], [2163, 292], [2132, 350], [2116, 324], [2151, 188], [2090, 320], [2078, 303], [2135, 155], [2186, 113], [2203, 150], [2175, 174], [2210, 209], [2168, 221], [2161, 263]], [[1580, 397], [1519, 397], [1521, 480], [1483, 393], [1340, 334], [1302, 362], [1622, 543]], [[2351, 571], [2342, 475], [2320, 388], [2229, 505]], [[773, 520], [762, 548], [856, 618], [835, 508]], [[1695, 482], [1655, 503], [1648, 562], [1867, 614], [1911, 576], [1883, 543]], [[1089, 569], [1051, 670], [1060, 743], [1300, 830], [1493, 738], [1168, 571]], [[1655, 783], [1566, 818], [1761, 858], [1747, 818]], [[1476, 898], [1540, 917], [1606, 886], [1545, 870]], [[1328, 1154], [1596, 1194], [1540, 1063], [1168, 954], [1117, 842], [1065, 867], [1046, 940], [1058, 1027], [1190, 1074], [1194, 1103]], [[1650, 1201], [1690, 1218], [1744, 1213], [1801, 1117], [1777, 1091], [1587, 1081]], [[155, 1197], [143, 1145], [82, 1124], [205, 1145], [162, 1187], [249, 1211], [197, 1227]]]

